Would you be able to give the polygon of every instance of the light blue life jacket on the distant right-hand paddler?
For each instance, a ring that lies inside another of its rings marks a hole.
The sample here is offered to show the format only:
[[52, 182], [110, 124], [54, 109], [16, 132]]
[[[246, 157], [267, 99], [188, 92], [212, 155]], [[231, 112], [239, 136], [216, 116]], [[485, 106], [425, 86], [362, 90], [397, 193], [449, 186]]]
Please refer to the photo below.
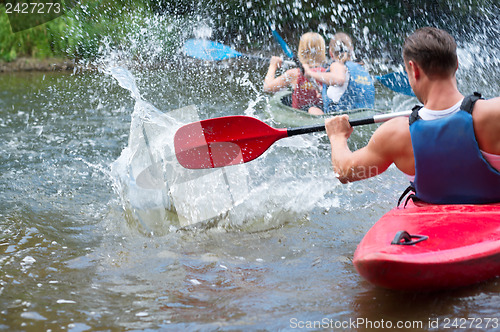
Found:
[[[373, 108], [375, 105], [375, 87], [373, 79], [360, 64], [347, 61], [349, 83], [338, 103], [334, 103], [327, 95], [329, 85], [323, 84], [323, 111], [334, 113], [356, 108]], [[329, 69], [327, 69], [329, 71]]]

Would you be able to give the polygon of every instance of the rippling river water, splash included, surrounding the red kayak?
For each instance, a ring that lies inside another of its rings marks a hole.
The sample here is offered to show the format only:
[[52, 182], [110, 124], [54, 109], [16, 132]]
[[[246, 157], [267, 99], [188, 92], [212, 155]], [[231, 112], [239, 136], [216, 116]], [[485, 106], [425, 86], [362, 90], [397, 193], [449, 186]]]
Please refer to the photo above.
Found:
[[[481, 58], [490, 76], [477, 80], [474, 57], [461, 45], [461, 88], [495, 96], [497, 58]], [[241, 166], [175, 164], [172, 137], [182, 124], [244, 114], [281, 126], [262, 93], [265, 67], [187, 62], [2, 74], [0, 329], [402, 323], [429, 330], [448, 322], [457, 330], [454, 319], [499, 319], [498, 279], [422, 294], [376, 288], [356, 273], [357, 244], [396, 205], [407, 180], [391, 167], [341, 185], [324, 133], [283, 139]], [[377, 85], [378, 108], [414, 103]], [[356, 128], [351, 147], [366, 144], [375, 128]], [[485, 321], [481, 327], [494, 330]]]

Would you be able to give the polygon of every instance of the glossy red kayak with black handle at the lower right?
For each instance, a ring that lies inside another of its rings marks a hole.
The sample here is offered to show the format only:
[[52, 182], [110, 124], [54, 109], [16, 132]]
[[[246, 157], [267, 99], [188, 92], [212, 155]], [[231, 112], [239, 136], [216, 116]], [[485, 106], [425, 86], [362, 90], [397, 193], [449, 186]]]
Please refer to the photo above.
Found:
[[440, 290], [500, 276], [500, 203], [408, 203], [386, 213], [354, 253], [374, 285]]

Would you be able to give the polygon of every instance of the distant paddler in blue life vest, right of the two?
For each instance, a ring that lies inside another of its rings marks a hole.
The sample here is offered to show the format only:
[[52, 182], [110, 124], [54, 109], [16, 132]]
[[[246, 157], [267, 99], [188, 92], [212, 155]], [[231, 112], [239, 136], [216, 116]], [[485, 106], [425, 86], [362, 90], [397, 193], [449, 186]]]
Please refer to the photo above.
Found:
[[370, 74], [359, 63], [353, 62], [354, 46], [351, 37], [338, 32], [328, 46], [332, 64], [325, 72], [310, 70], [304, 65], [306, 77], [323, 85], [322, 108], [311, 108], [309, 113], [320, 115], [357, 108], [373, 108], [375, 87]]

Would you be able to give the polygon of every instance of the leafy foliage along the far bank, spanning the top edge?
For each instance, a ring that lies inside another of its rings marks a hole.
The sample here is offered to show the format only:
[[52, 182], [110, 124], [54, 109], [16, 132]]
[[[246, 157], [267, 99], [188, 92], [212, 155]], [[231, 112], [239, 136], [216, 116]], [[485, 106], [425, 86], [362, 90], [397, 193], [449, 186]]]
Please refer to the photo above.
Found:
[[[462, 31], [469, 22], [467, 29], [473, 35], [474, 29], [484, 25], [477, 22], [496, 24], [500, 10], [497, 0], [82, 0], [64, 16], [12, 33], [5, 7], [0, 6], [0, 60], [18, 56], [92, 59], [99, 55], [103, 42], [130, 48], [129, 35], [151, 30], [148, 20], [155, 15], [168, 22], [181, 18], [207, 21], [212, 39], [240, 48], [262, 47], [269, 41], [269, 23], [291, 45], [297, 45], [306, 31], [326, 38], [345, 31], [354, 37], [357, 49], [383, 56], [399, 54], [405, 36], [418, 27]], [[154, 38], [161, 38], [165, 53], [172, 53], [179, 39], [176, 34], [187, 32], [185, 26], [172, 29], [168, 22], [153, 27], [157, 29]]]

